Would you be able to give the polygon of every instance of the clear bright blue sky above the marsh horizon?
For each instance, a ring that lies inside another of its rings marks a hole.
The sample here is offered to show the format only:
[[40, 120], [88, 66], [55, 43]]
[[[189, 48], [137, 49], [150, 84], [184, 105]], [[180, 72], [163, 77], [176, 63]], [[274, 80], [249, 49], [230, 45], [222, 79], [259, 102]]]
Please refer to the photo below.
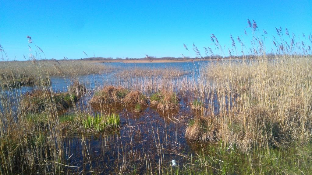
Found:
[[245, 35], [244, 29], [251, 33], [247, 19], [254, 19], [268, 36], [276, 35], [279, 26], [296, 35], [312, 32], [312, 1], [0, 0], [0, 4], [0, 44], [10, 60], [27, 57], [27, 45], [34, 51], [27, 35], [47, 59], [79, 59], [86, 57], [83, 51], [113, 58], [195, 56], [183, 43], [189, 48], [195, 43], [204, 54], [203, 47], [212, 46], [211, 34], [230, 46], [230, 34], [236, 39]]

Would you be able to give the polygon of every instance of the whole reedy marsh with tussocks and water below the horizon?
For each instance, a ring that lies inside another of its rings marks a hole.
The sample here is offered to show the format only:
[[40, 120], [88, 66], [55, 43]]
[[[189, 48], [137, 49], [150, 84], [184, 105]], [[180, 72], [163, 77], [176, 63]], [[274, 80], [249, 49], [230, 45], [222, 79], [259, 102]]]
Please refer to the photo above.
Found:
[[311, 50], [294, 40], [183, 68], [2, 61], [0, 172], [310, 174]]

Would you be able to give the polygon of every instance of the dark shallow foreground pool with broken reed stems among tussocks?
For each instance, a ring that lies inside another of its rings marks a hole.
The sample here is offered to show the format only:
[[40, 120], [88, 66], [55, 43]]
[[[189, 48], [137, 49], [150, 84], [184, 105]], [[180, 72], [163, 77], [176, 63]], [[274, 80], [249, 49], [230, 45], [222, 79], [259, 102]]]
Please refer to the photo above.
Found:
[[[140, 171], [145, 172], [146, 163], [143, 159], [146, 158], [144, 157], [147, 156], [146, 154], [149, 159], [152, 159], [153, 166], [159, 166], [163, 162], [169, 165], [172, 159], [176, 159], [182, 165], [187, 161], [183, 154], [185, 156], [191, 152], [189, 143], [184, 139], [184, 130], [186, 122], [193, 114], [186, 104], [183, 102], [180, 104], [182, 106], [178, 110], [170, 113], [149, 106], [141, 113], [132, 112], [130, 108], [119, 105], [94, 109], [104, 113], [118, 109], [116, 112], [121, 116], [121, 128], [85, 136], [86, 147], [93, 159], [91, 164], [85, 165], [84, 171], [90, 171], [92, 167], [93, 170], [97, 169], [103, 173], [114, 172], [116, 167], [120, 167], [121, 163], [127, 160], [131, 165], [136, 162], [142, 164]], [[68, 159], [68, 164], [82, 167], [85, 155], [80, 150], [81, 136], [66, 135], [65, 137], [64, 147], [68, 149], [71, 145], [71, 150], [66, 157], [74, 155]]]

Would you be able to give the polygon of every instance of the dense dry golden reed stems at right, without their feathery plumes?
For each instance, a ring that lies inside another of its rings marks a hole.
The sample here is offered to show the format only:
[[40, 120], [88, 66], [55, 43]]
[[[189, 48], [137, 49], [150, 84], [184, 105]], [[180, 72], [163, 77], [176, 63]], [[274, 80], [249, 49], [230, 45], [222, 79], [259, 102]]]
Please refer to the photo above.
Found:
[[[311, 72], [309, 56], [285, 55], [274, 60], [261, 57], [208, 66], [205, 73], [213, 78], [218, 99], [215, 105], [220, 108], [216, 116], [220, 125], [217, 140], [236, 144], [244, 151], [310, 141]], [[190, 127], [188, 130], [198, 130]], [[198, 135], [193, 138], [202, 140]]]

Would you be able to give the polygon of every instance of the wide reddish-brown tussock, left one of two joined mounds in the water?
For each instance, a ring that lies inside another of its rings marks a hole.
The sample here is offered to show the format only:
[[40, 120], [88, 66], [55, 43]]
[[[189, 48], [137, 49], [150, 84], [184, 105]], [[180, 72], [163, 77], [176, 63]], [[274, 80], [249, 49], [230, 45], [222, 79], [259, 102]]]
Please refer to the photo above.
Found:
[[103, 89], [94, 92], [90, 104], [120, 103], [127, 94], [128, 90], [123, 87], [105, 86]]

